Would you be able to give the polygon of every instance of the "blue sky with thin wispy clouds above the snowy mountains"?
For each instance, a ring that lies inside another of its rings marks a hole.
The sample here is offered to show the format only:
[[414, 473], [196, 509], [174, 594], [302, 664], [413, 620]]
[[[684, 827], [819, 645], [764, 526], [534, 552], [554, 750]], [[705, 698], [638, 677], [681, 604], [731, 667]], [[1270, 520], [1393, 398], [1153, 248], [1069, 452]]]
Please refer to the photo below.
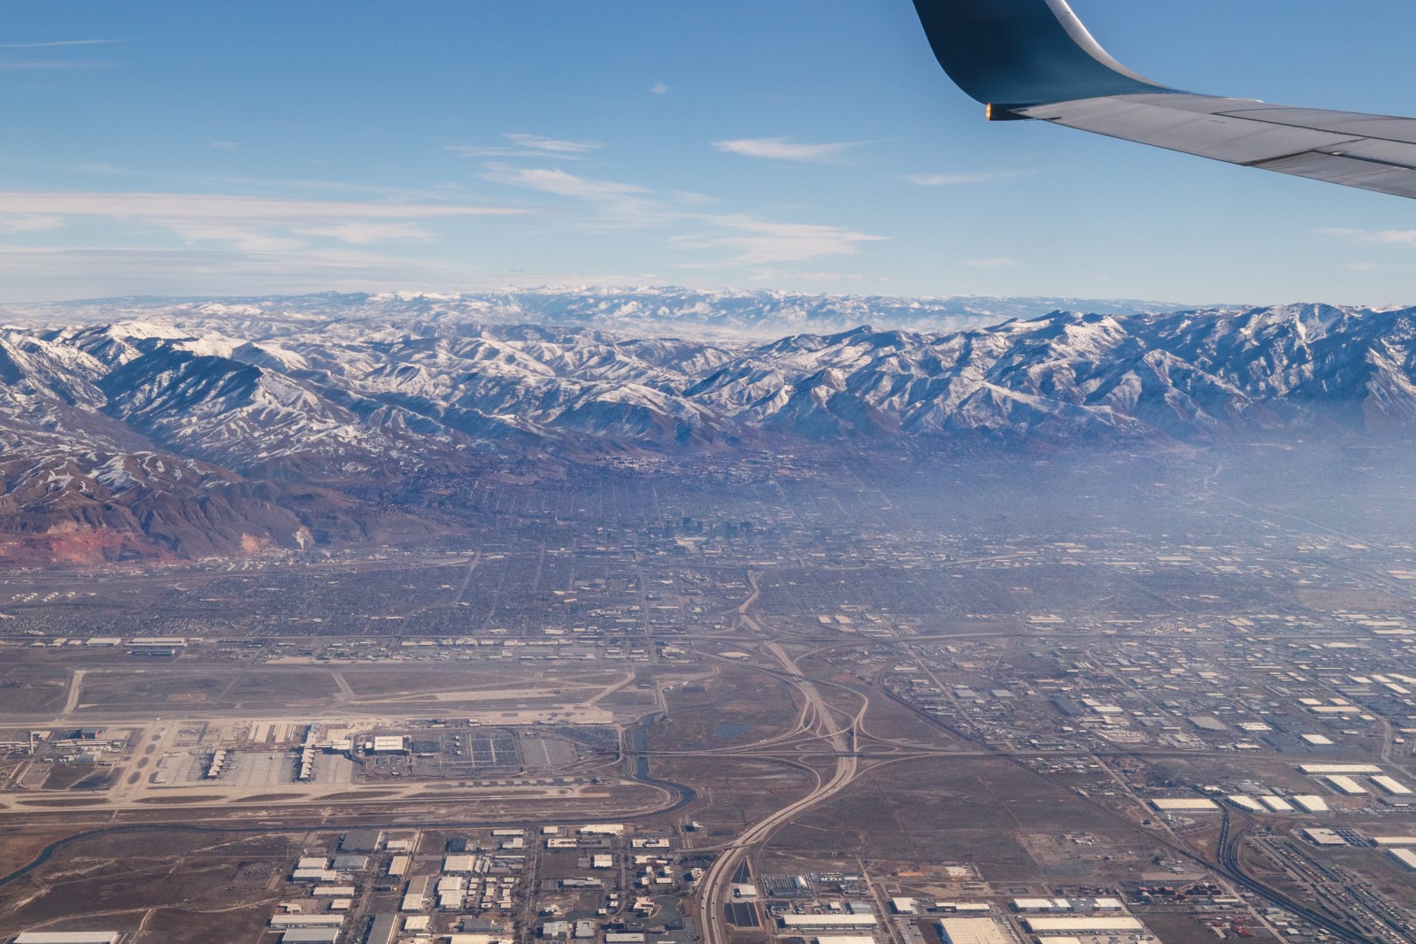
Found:
[[[1197, 92], [1416, 116], [1409, 0], [1075, 0]], [[1416, 304], [1416, 202], [988, 125], [908, 0], [13, 4], [0, 300], [688, 284]]]

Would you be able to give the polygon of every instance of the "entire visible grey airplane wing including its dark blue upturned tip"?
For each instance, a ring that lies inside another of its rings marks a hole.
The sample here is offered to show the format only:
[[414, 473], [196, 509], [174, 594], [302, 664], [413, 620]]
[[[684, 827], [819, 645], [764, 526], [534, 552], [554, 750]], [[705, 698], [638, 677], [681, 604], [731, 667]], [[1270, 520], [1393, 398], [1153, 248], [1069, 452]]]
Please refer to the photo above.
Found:
[[1416, 119], [1195, 95], [1107, 55], [1066, 0], [915, 0], [990, 120], [1037, 119], [1231, 164], [1416, 197]]

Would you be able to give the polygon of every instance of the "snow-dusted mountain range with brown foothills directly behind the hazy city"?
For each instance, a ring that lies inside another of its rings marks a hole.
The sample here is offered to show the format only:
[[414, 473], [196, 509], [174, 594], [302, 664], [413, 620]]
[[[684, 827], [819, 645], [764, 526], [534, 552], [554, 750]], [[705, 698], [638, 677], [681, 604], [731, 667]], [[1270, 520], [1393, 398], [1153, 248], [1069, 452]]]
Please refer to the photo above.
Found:
[[409, 487], [429, 476], [1416, 420], [1416, 309], [1058, 311], [711, 343], [463, 309], [374, 317], [371, 299], [340, 297], [0, 331], [0, 560], [391, 539], [433, 526]]

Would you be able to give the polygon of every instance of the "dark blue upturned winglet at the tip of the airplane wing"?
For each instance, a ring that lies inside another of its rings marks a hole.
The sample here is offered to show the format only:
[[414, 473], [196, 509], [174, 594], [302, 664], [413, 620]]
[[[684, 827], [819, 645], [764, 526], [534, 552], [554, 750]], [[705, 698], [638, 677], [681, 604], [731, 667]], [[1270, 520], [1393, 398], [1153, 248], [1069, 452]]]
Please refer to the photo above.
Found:
[[935, 58], [990, 106], [990, 120], [1032, 105], [1178, 91], [1113, 59], [1066, 0], [915, 0], [915, 10]]

